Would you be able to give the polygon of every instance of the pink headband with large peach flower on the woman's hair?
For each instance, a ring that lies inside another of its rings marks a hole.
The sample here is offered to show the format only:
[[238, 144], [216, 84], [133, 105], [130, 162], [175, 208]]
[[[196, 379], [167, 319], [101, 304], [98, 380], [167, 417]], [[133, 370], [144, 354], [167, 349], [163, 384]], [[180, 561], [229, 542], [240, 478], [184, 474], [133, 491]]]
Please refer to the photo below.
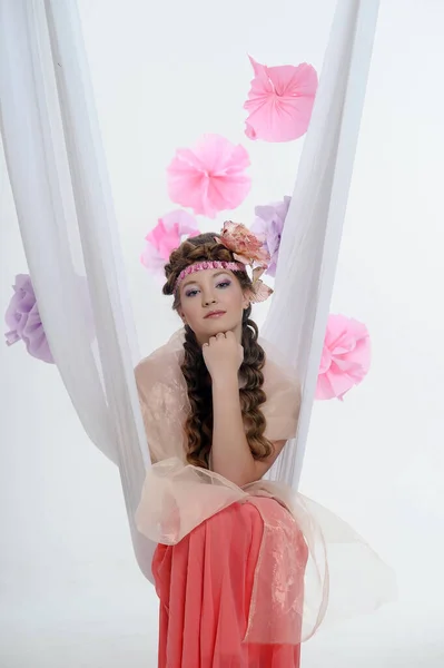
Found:
[[215, 240], [231, 250], [237, 262], [206, 261], [197, 262], [182, 269], [177, 277], [175, 292], [180, 283], [195, 272], [203, 269], [229, 269], [230, 272], [247, 272], [251, 269], [251, 302], [265, 302], [273, 289], [260, 281], [260, 276], [267, 269], [269, 255], [264, 249], [263, 243], [245, 225], [227, 220], [224, 223], [219, 237]]

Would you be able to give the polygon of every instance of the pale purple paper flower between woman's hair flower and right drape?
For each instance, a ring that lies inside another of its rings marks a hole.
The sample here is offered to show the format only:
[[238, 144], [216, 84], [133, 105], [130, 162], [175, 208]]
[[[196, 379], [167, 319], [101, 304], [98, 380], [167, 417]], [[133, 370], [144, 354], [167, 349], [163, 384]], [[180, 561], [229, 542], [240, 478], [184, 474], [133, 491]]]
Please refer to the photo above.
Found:
[[270, 262], [266, 271], [270, 276], [276, 276], [280, 236], [290, 202], [292, 197], [285, 196], [284, 202], [275, 202], [255, 208], [256, 218], [251, 225], [251, 232], [264, 240], [264, 248], [270, 256]]

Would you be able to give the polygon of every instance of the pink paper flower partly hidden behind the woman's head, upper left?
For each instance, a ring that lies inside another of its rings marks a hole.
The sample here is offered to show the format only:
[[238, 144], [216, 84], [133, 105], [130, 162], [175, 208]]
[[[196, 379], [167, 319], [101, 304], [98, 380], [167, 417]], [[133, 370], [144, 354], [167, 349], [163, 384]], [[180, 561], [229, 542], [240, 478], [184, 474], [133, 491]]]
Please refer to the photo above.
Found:
[[161, 274], [171, 252], [180, 246], [184, 237], [198, 234], [196, 219], [187, 212], [176, 209], [166, 214], [145, 237], [147, 245], [140, 257], [141, 264], [150, 272]]

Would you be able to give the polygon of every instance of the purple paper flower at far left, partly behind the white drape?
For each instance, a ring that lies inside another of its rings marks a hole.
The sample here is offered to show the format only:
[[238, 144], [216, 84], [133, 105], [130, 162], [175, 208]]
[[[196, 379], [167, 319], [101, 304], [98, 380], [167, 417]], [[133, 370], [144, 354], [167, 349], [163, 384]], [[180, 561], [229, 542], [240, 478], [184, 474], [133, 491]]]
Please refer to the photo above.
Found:
[[23, 341], [28, 353], [42, 362], [53, 364], [39, 308], [36, 302], [31, 277], [18, 274], [12, 286], [14, 294], [4, 314], [4, 321], [10, 327], [7, 332], [7, 345]]

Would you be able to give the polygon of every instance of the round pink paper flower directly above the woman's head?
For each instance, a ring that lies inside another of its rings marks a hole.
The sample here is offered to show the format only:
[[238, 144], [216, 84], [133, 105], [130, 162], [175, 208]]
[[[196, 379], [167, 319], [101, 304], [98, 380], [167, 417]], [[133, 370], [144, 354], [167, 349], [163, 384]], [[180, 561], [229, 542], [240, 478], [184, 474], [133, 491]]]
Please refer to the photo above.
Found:
[[215, 218], [219, 212], [238, 207], [249, 193], [251, 180], [246, 149], [219, 135], [204, 135], [197, 146], [179, 148], [167, 169], [172, 202], [195, 214]]

